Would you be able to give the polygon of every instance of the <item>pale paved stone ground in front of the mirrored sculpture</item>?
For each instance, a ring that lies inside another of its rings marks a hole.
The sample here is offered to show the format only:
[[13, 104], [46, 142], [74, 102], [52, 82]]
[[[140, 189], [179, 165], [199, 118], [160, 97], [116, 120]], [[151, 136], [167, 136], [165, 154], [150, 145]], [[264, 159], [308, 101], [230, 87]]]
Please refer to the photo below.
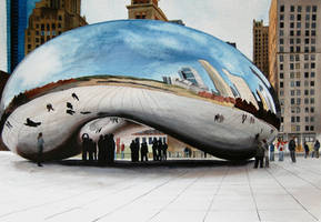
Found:
[[[319, 221], [321, 159], [38, 168], [0, 152], [0, 221]], [[195, 164], [197, 163], [197, 164]]]

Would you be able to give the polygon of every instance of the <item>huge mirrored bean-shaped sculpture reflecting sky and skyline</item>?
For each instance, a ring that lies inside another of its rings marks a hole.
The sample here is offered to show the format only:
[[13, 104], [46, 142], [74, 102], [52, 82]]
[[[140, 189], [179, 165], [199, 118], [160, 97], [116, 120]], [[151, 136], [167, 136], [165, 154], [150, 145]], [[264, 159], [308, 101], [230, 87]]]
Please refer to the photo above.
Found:
[[[81, 152], [80, 132], [97, 119], [154, 128], [228, 160], [271, 141], [279, 105], [269, 81], [235, 48], [203, 32], [150, 20], [121, 20], [66, 32], [31, 52], [1, 100], [2, 142], [36, 160]], [[106, 123], [108, 124], [108, 122]]]

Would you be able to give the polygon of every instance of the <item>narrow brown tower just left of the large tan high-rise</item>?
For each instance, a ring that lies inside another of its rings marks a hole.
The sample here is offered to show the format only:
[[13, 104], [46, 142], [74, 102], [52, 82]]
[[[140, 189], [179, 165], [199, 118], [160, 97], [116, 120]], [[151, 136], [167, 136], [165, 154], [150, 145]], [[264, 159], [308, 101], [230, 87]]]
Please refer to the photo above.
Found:
[[269, 27], [253, 20], [253, 63], [269, 75]]

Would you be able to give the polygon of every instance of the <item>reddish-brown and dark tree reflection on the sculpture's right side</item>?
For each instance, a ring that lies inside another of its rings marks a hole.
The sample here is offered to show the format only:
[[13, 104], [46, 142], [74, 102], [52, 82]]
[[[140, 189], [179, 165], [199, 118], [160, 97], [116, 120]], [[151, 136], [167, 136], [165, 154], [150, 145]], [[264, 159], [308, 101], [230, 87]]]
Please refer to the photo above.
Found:
[[241, 98], [237, 99], [225, 98], [205, 91], [199, 92], [198, 94], [202, 98], [211, 99], [218, 102], [232, 103], [234, 104], [235, 108], [249, 112], [253, 114], [255, 118], [264, 120], [265, 122], [272, 124], [277, 129], [280, 129], [280, 119], [274, 113], [272, 113], [271, 110], [269, 111], [264, 110], [262, 102], [258, 102], [259, 105], [258, 110], [252, 102], [248, 102], [247, 100], [243, 100]]

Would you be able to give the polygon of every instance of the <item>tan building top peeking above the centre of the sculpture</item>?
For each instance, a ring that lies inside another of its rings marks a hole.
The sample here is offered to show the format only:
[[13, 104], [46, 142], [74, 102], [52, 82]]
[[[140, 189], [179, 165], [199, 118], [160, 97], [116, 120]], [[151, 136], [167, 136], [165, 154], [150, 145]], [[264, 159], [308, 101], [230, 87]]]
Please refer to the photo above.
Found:
[[128, 19], [150, 19], [168, 21], [167, 16], [158, 6], [159, 0], [131, 0], [127, 6]]

